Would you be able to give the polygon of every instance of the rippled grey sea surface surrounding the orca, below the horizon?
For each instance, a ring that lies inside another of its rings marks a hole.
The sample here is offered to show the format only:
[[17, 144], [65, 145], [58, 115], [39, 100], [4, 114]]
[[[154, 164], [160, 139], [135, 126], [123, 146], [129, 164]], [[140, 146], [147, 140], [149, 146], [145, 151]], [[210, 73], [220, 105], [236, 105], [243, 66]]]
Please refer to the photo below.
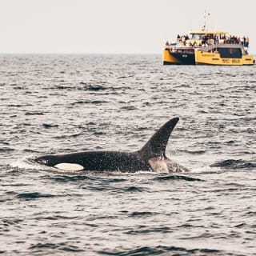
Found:
[[[0, 254], [256, 254], [256, 66], [10, 54], [0, 72]], [[166, 154], [187, 173], [32, 161], [138, 150], [177, 116]]]

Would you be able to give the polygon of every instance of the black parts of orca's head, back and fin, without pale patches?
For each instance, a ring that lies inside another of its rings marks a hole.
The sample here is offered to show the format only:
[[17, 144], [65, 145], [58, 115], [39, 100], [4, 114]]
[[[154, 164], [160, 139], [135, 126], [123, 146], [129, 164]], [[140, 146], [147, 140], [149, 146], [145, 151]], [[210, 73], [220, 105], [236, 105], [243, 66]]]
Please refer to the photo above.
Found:
[[128, 152], [119, 151], [84, 151], [71, 154], [53, 154], [36, 158], [35, 161], [46, 166], [59, 164], [76, 164], [83, 170], [119, 170], [138, 171], [151, 170], [151, 158], [166, 158], [166, 145], [178, 118], [166, 122], [142, 147], [141, 150]]

